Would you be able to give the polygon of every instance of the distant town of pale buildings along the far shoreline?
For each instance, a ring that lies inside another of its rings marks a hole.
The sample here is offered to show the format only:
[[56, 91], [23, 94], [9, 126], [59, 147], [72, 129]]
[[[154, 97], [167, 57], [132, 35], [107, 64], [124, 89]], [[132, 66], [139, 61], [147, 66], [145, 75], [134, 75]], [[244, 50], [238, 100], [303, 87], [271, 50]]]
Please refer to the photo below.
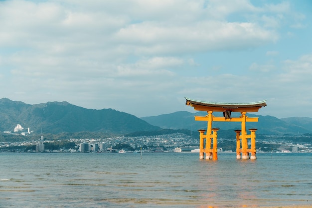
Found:
[[[159, 136], [109, 137], [104, 139], [38, 140], [1, 142], [0, 152], [68, 152], [68, 153], [155, 153], [155, 152], [198, 152], [198, 138], [176, 133]], [[236, 141], [218, 140], [218, 152], [235, 152]], [[249, 144], [250, 145], [250, 144]], [[257, 153], [306, 153], [312, 152], [311, 143], [294, 143], [288, 137], [267, 136], [257, 141]]]

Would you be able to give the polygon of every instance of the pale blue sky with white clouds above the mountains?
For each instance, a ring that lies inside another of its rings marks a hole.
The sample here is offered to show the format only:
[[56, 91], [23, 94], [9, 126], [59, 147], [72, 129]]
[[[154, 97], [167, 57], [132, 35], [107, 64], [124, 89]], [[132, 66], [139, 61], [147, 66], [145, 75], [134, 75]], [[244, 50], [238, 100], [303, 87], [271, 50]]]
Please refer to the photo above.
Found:
[[0, 98], [312, 117], [311, 0], [0, 0]]

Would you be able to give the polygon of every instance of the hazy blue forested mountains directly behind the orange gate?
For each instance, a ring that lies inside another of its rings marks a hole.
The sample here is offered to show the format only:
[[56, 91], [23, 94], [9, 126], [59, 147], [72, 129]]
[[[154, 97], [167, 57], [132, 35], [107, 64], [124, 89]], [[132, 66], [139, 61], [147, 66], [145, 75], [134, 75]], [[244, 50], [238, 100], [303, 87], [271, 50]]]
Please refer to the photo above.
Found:
[[[142, 119], [148, 123], [168, 129], [188, 129], [196, 131], [198, 129], [206, 129], [207, 122], [195, 121], [194, 116], [205, 116], [206, 112], [190, 113], [187, 111], [178, 111], [171, 114], [159, 116], [143, 117]], [[213, 113], [214, 116], [222, 116], [222, 113]], [[232, 117], [239, 117], [240, 113], [233, 114]], [[312, 133], [311, 118], [284, 118], [278, 119], [273, 116], [259, 116], [247, 114], [248, 117], [258, 117], [258, 122], [247, 122], [246, 128], [257, 128], [257, 134], [266, 135], [284, 135], [284, 134], [305, 134]], [[240, 122], [213, 122], [213, 127], [222, 130], [241, 129]]]

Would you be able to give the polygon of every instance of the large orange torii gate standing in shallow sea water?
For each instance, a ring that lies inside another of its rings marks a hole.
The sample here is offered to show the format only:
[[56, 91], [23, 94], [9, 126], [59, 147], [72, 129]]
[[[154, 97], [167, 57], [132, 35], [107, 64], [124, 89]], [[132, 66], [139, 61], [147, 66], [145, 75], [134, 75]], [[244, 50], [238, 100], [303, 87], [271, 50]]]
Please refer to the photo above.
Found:
[[[265, 107], [266, 100], [252, 103], [217, 103], [217, 102], [205, 102], [199, 100], [192, 100], [186, 98], [186, 105], [192, 106], [194, 110], [207, 111], [207, 116], [195, 116], [195, 121], [207, 121], [206, 130], [199, 131], [199, 159], [204, 159], [204, 153], [206, 154], [206, 160], [217, 160], [217, 132], [218, 128], [212, 128], [212, 121], [227, 121], [227, 122], [241, 122], [241, 130], [235, 130], [236, 132], [236, 158], [237, 159], [251, 159], [255, 160], [256, 157], [256, 131], [257, 129], [249, 129], [250, 135], [246, 131], [246, 122], [258, 122], [258, 118], [249, 118], [246, 116], [247, 112], [258, 112], [261, 107]], [[223, 117], [215, 117], [213, 112], [223, 112]], [[232, 118], [231, 112], [240, 112], [241, 116], [238, 118]], [[206, 144], [204, 148], [204, 139]], [[211, 140], [212, 139], [212, 140]], [[248, 148], [247, 139], [251, 139], [251, 147]], [[212, 142], [212, 148], [211, 148]], [[242, 155], [241, 155], [242, 153]], [[249, 157], [249, 153], [251, 156]]]

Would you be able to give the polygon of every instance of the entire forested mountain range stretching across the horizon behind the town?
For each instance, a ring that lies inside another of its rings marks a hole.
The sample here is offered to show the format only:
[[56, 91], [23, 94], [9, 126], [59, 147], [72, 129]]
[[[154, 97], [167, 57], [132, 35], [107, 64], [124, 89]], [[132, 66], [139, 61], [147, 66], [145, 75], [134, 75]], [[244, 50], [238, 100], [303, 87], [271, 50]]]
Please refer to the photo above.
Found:
[[[100, 135], [153, 135], [162, 134], [164, 129], [190, 130], [206, 129], [207, 122], [195, 121], [194, 116], [205, 116], [206, 112], [190, 113], [178, 111], [159, 116], [138, 118], [113, 109], [86, 109], [68, 102], [47, 102], [25, 104], [20, 101], [0, 99], [0, 131], [13, 131], [17, 124], [30, 128], [35, 133], [44, 134], [91, 132]], [[222, 113], [213, 113], [222, 116]], [[233, 113], [232, 117], [240, 114]], [[283, 118], [247, 114], [259, 117], [259, 122], [247, 122], [246, 128], [257, 128], [257, 135], [303, 135], [312, 133], [312, 118]], [[213, 127], [222, 131], [240, 129], [240, 122], [213, 122]], [[161, 131], [160, 131], [161, 130]], [[143, 132], [143, 133], [140, 133]], [[149, 133], [150, 132], [150, 133]], [[85, 136], [84, 136], [85, 137]]]

